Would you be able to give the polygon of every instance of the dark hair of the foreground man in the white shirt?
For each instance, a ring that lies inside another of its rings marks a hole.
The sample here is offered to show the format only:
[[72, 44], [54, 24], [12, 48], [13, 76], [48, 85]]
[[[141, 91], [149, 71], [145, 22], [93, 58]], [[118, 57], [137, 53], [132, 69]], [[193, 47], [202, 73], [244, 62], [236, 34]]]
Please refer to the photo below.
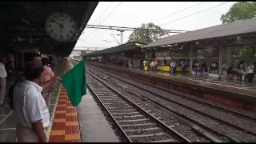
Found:
[[25, 68], [25, 78], [27, 80], [34, 80], [35, 78], [39, 78], [42, 74], [43, 66], [26, 66]]

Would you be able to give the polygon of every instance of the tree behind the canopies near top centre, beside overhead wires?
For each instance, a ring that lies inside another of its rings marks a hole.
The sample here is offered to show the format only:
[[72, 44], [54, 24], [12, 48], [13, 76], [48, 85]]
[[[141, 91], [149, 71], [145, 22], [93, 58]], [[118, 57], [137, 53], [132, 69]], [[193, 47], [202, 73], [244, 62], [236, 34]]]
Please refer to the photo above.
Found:
[[160, 26], [155, 26], [154, 23], [143, 23], [140, 28], [135, 29], [134, 32], [130, 34], [128, 42], [142, 42], [148, 44], [158, 40], [165, 34], [167, 34], [166, 31], [162, 30]]

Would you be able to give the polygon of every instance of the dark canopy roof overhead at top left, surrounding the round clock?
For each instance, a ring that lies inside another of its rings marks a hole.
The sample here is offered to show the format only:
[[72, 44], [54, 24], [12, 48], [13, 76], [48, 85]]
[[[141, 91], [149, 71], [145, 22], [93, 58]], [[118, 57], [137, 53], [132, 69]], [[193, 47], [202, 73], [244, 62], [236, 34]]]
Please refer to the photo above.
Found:
[[[98, 2], [0, 2], [0, 41], [3, 48], [30, 47], [43, 53], [68, 56], [86, 27]], [[70, 14], [77, 33], [69, 41], [58, 42], [46, 33], [46, 19], [54, 12]]]

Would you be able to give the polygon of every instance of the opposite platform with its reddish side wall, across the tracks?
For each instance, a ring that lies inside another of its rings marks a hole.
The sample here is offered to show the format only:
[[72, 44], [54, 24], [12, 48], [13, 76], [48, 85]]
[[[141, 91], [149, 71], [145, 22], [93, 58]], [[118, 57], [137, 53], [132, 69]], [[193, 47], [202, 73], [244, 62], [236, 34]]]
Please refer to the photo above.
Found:
[[[87, 62], [88, 64], [94, 64]], [[239, 83], [237, 81], [218, 80], [214, 77], [182, 76], [160, 71], [144, 71], [128, 69], [121, 66], [111, 66], [97, 63], [102, 68], [110, 67], [112, 72], [122, 76], [150, 82], [155, 86], [178, 90], [184, 94], [194, 94], [228, 106], [256, 111], [256, 85]]]

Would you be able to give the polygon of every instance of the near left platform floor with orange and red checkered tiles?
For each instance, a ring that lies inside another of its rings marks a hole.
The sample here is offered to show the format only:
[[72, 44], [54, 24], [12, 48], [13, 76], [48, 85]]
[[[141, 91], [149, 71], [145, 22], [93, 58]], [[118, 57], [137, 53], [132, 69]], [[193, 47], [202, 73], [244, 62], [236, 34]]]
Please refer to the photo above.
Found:
[[[71, 62], [66, 66], [63, 62], [58, 65], [56, 74], [62, 75], [72, 67]], [[8, 81], [6, 94], [14, 79], [12, 77]], [[120, 142], [89, 90], [75, 108], [71, 106], [62, 85], [55, 84], [49, 110], [50, 126], [46, 128], [48, 142]], [[15, 124], [16, 120], [6, 95], [4, 106], [0, 106], [0, 142], [15, 142]]]

